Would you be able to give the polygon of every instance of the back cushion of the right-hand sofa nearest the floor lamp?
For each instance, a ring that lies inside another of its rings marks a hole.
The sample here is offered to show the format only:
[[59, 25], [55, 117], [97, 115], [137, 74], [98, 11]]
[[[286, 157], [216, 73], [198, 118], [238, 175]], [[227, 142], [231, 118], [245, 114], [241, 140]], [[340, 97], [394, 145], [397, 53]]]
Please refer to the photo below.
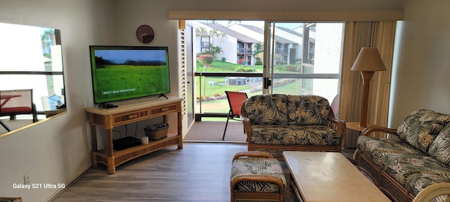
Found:
[[430, 144], [450, 122], [450, 115], [420, 109], [412, 112], [397, 128], [397, 135], [422, 152], [428, 152]]

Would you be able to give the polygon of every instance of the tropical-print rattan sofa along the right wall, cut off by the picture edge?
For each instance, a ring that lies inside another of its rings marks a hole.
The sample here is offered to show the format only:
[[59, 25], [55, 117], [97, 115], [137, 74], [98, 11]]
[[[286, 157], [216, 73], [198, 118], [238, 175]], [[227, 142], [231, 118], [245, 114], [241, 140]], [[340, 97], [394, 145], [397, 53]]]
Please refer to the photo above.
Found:
[[[375, 132], [390, 134], [373, 137]], [[399, 128], [366, 128], [357, 141], [355, 158], [392, 201], [413, 201], [425, 187], [450, 182], [450, 115], [420, 109]], [[444, 201], [439, 196], [435, 201]]]

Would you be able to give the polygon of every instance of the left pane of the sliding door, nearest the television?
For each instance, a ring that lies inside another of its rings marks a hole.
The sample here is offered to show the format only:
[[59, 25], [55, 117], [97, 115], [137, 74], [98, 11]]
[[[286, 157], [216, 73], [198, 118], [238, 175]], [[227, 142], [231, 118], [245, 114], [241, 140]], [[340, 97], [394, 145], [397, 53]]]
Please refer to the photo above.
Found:
[[225, 91], [262, 93], [264, 21], [195, 20], [195, 120], [221, 117]]

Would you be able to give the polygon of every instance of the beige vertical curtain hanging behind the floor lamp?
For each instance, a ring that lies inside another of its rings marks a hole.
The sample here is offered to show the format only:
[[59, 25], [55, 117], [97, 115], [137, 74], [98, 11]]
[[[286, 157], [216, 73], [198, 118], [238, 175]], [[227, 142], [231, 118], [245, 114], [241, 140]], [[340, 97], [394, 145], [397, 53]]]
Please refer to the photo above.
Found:
[[[359, 122], [363, 80], [360, 72], [350, 69], [361, 48], [375, 47], [378, 48], [387, 70], [375, 72], [371, 79], [367, 123], [387, 126], [395, 25], [395, 21], [346, 22], [339, 119]], [[359, 132], [347, 129], [344, 147], [355, 148], [358, 136]]]

